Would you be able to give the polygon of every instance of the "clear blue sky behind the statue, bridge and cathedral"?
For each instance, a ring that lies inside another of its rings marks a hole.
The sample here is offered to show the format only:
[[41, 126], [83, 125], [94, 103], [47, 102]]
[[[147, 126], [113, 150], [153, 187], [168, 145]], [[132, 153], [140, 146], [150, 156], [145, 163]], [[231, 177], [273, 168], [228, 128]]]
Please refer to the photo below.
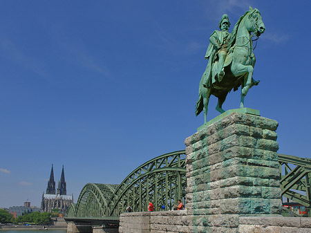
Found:
[[185, 149], [209, 35], [249, 6], [266, 31], [245, 106], [279, 122], [279, 153], [311, 158], [311, 1], [1, 1], [0, 207], [39, 206], [52, 164], [77, 201]]

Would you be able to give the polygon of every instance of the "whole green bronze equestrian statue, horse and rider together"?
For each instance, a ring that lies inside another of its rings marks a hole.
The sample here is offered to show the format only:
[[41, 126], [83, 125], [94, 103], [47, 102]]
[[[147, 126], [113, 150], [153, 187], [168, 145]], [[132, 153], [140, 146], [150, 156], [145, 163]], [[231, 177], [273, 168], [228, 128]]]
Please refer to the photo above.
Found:
[[256, 62], [252, 38], [259, 37], [265, 31], [261, 13], [249, 7], [231, 34], [228, 32], [229, 26], [229, 17], [223, 15], [219, 23], [220, 31], [215, 30], [209, 38], [210, 44], [205, 55], [209, 62], [200, 80], [196, 102], [196, 115], [203, 111], [205, 123], [211, 95], [218, 97], [216, 110], [224, 113], [222, 106], [227, 94], [241, 86], [240, 108], [244, 108], [244, 98], [249, 88], [259, 82], [252, 77]]

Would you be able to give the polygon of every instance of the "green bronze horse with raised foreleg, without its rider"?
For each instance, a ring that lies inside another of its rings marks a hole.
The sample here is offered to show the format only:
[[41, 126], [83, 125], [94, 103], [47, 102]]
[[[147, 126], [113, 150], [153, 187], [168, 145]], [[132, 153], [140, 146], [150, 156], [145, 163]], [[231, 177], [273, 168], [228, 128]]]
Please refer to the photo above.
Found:
[[[209, 87], [205, 87], [205, 83], [207, 82], [205, 75], [200, 80], [199, 96], [196, 102], [196, 115], [203, 111], [205, 123], [207, 122], [207, 106], [211, 95], [218, 97], [216, 110], [224, 113], [225, 111], [222, 109], [222, 106], [227, 94], [232, 88], [236, 91], [241, 86], [240, 108], [244, 107], [244, 97], [249, 88], [257, 85], [259, 82], [252, 78], [256, 62], [252, 36], [256, 35], [259, 37], [264, 31], [265, 25], [261, 19], [261, 13], [256, 8], [254, 10], [249, 8], [249, 11], [245, 12], [234, 26], [232, 38], [227, 48], [227, 57], [224, 65], [225, 76], [223, 80], [220, 82], [216, 81]], [[214, 66], [215, 64], [211, 68], [211, 75], [215, 77], [217, 72]]]

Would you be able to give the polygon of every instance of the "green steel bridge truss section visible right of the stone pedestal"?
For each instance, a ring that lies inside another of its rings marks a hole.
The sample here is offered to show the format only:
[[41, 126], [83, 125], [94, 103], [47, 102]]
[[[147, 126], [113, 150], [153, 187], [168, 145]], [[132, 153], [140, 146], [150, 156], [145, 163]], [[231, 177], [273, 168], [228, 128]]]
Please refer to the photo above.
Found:
[[279, 153], [282, 196], [311, 207], [311, 160]]

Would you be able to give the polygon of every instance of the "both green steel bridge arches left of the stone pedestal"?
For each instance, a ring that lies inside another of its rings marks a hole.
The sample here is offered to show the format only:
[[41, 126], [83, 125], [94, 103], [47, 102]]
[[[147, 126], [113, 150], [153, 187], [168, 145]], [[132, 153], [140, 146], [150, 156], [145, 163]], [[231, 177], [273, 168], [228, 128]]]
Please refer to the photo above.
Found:
[[140, 165], [120, 185], [86, 184], [67, 218], [119, 216], [127, 205], [133, 212], [147, 211], [149, 201], [155, 211], [171, 209], [185, 198], [185, 158], [185, 151], [166, 153]]

